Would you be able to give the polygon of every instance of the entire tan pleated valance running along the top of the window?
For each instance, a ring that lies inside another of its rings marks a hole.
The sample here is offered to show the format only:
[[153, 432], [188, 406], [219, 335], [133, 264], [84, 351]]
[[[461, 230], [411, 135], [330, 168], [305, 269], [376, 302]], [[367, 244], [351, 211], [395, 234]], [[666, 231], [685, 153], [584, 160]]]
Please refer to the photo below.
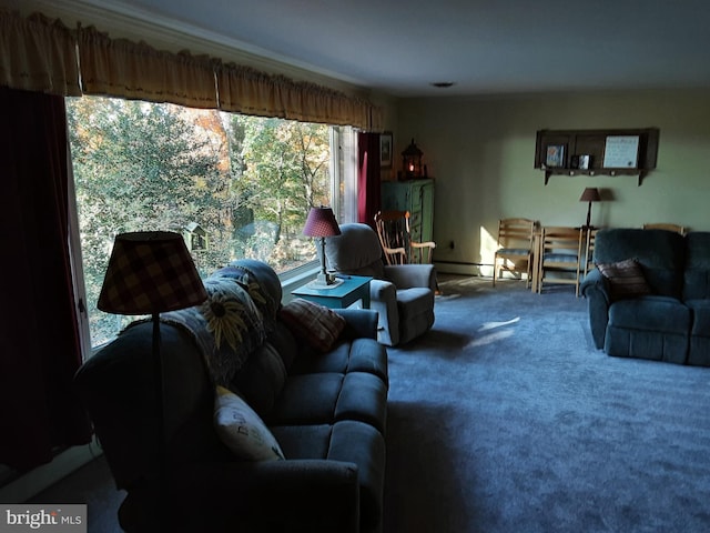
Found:
[[[61, 95], [101, 94], [304, 122], [381, 127], [382, 110], [315, 83], [189, 52], [67, 29], [41, 14], [0, 11], [0, 84]], [[81, 80], [81, 84], [80, 84]]]

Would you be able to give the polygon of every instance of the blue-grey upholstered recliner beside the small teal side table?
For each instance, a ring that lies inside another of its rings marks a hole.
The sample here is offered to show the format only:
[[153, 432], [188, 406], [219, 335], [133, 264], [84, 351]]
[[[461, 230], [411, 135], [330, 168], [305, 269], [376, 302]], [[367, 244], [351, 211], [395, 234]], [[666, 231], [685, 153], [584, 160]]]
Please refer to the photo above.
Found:
[[371, 309], [379, 313], [377, 340], [404, 344], [434, 324], [436, 271], [432, 264], [386, 265], [377, 233], [367, 224], [341, 225], [326, 239], [329, 269], [351, 275], [372, 275]]

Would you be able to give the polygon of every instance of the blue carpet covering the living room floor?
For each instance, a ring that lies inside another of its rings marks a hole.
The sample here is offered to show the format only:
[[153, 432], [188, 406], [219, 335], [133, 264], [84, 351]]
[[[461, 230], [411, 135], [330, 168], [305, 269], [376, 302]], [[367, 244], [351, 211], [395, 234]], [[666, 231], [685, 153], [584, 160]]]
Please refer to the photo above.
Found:
[[710, 369], [597, 351], [569, 285], [440, 286], [389, 349], [385, 532], [710, 531]]

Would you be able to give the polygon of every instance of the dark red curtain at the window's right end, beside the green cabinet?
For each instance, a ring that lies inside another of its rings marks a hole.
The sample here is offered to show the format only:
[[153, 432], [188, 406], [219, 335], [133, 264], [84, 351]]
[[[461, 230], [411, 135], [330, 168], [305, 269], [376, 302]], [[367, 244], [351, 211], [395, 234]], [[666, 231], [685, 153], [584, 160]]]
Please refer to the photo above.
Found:
[[357, 134], [357, 221], [375, 228], [381, 209], [379, 133]]

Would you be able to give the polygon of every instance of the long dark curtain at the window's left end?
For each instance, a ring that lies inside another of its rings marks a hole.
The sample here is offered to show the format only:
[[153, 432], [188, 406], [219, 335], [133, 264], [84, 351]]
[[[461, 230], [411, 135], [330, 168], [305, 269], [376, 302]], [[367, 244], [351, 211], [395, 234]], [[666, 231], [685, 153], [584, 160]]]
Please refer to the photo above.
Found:
[[28, 470], [91, 436], [68, 249], [62, 97], [0, 88], [0, 463]]

